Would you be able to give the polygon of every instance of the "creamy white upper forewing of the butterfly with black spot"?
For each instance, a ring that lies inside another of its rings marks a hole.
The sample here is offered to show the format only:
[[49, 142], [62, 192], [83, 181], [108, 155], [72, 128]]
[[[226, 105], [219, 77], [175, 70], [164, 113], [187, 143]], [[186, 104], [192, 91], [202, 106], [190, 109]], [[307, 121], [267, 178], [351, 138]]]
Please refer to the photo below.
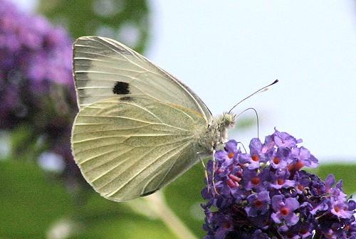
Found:
[[73, 68], [80, 109], [114, 95], [146, 95], [195, 110], [211, 123], [211, 112], [189, 87], [110, 38], [78, 38], [74, 43]]

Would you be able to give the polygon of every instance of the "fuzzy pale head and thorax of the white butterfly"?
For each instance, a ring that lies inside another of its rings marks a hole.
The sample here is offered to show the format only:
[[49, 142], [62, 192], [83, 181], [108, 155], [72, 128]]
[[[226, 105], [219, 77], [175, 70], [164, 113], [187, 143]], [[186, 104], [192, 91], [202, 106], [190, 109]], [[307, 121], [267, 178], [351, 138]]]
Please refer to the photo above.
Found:
[[234, 127], [235, 117], [234, 114], [224, 113], [213, 119], [206, 132], [199, 137], [199, 144], [205, 152], [212, 153], [227, 141], [227, 129]]

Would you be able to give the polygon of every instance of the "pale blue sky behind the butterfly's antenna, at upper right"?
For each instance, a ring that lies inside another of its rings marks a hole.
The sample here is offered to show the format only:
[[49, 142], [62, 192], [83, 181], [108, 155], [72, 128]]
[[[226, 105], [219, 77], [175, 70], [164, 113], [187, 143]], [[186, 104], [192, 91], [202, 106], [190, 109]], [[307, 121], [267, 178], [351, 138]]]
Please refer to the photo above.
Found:
[[[31, 9], [30, 1], [17, 2]], [[254, 107], [261, 136], [276, 126], [303, 138], [320, 161], [356, 161], [356, 1], [150, 3], [145, 55], [192, 87], [214, 115], [278, 78], [235, 112]], [[245, 144], [256, 136], [237, 132]]]

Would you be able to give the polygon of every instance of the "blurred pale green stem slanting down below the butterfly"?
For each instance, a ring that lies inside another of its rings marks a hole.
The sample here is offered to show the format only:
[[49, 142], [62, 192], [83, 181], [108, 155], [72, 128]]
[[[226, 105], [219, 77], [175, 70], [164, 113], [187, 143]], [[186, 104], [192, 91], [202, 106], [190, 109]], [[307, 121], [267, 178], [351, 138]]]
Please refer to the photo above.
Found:
[[181, 239], [197, 239], [197, 237], [187, 228], [186, 225], [174, 214], [164, 200], [161, 191], [157, 191], [145, 197], [148, 206], [161, 219], [172, 232]]

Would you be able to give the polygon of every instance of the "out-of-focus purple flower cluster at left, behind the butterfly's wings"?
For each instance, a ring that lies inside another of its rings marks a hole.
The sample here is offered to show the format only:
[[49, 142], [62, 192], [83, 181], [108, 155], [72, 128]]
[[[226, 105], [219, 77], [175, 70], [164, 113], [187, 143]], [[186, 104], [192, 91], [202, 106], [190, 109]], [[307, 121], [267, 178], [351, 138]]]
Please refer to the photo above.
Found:
[[78, 171], [70, 152], [77, 112], [72, 39], [65, 29], [6, 0], [0, 0], [0, 102], [0, 130], [22, 125], [36, 134], [19, 147], [44, 142], [39, 151], [66, 159], [66, 174]]

